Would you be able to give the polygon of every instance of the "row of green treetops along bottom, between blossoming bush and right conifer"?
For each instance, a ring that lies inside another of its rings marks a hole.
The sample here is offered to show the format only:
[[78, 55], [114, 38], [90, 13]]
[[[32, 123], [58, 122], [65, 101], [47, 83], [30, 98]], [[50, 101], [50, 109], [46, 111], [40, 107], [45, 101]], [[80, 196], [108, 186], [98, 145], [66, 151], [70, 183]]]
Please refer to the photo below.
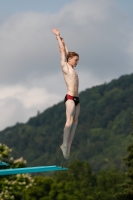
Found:
[[24, 200], [116, 200], [124, 176], [116, 170], [92, 173], [89, 163], [75, 161], [68, 171], [52, 177], [35, 177], [36, 185], [25, 191]]

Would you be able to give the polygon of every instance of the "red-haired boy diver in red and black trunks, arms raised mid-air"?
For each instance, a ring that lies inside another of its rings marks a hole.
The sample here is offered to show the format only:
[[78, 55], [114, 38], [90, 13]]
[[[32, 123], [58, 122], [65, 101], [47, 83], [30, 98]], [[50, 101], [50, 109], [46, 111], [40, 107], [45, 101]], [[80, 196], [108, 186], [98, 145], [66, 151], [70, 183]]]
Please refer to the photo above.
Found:
[[78, 64], [79, 55], [75, 52], [68, 52], [63, 38], [60, 37], [59, 30], [52, 29], [52, 31], [58, 40], [61, 53], [61, 67], [67, 86], [67, 95], [64, 99], [66, 104], [66, 124], [64, 127], [63, 143], [60, 148], [64, 158], [68, 159], [80, 112], [80, 102], [78, 98], [79, 79], [74, 69]]

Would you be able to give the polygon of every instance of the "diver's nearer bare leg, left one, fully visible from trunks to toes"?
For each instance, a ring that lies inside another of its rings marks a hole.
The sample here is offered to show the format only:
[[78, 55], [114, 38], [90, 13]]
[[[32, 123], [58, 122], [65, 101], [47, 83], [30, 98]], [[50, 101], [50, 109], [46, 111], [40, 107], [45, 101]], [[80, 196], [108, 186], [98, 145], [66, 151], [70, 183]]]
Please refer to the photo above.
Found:
[[63, 134], [63, 143], [60, 146], [64, 158], [68, 159], [68, 147], [69, 147], [69, 140], [70, 140], [70, 131], [74, 119], [75, 114], [75, 103], [73, 100], [66, 101], [66, 124], [64, 127], [64, 134]]

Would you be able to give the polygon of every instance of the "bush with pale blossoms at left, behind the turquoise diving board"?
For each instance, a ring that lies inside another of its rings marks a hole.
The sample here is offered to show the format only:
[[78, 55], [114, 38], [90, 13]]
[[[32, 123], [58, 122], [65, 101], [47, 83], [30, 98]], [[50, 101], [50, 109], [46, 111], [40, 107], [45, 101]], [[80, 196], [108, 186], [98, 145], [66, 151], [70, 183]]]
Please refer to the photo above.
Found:
[[[25, 167], [23, 158], [14, 160], [10, 157], [11, 149], [0, 144], [0, 160], [5, 160], [9, 168]], [[2, 168], [2, 167], [1, 167]], [[29, 174], [1, 176], [0, 177], [0, 200], [22, 200], [23, 191], [34, 185], [34, 180]]]

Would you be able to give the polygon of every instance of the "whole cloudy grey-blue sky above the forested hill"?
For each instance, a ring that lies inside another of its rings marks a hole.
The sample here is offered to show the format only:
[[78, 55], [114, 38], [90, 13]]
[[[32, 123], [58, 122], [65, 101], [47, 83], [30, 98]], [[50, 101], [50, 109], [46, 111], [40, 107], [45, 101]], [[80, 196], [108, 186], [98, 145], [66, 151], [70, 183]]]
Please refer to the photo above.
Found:
[[0, 130], [64, 99], [52, 28], [79, 53], [79, 91], [133, 71], [132, 0], [0, 0]]

